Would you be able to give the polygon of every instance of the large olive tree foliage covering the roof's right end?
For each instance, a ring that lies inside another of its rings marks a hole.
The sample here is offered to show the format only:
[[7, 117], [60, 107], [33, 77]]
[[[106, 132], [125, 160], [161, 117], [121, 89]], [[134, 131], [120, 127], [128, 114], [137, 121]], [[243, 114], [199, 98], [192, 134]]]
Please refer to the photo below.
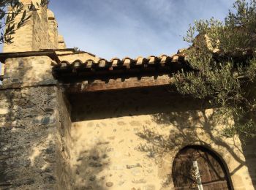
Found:
[[255, 135], [256, 0], [236, 0], [225, 21], [195, 21], [184, 40], [192, 44], [186, 55], [194, 72], [174, 76], [178, 91], [221, 107], [226, 137]]

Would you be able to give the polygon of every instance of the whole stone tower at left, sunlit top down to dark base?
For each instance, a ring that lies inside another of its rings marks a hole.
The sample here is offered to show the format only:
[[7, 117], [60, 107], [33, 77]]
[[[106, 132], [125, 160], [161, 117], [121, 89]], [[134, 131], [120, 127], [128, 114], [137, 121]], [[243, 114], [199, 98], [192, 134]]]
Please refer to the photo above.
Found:
[[[26, 8], [31, 0], [22, 2]], [[67, 129], [62, 122], [70, 121], [50, 58], [56, 58], [54, 50], [65, 48], [64, 40], [48, 7], [28, 14], [30, 20], [0, 53], [0, 189], [69, 189], [64, 183], [70, 172], [63, 139], [68, 130], [62, 130]]]

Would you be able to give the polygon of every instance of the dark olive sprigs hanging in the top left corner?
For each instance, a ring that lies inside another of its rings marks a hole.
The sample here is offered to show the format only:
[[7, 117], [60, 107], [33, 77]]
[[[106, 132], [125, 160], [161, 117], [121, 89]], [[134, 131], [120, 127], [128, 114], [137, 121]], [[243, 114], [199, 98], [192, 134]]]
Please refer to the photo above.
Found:
[[19, 0], [1, 0], [0, 1], [0, 44], [12, 43], [13, 37], [20, 27], [29, 21], [31, 14], [29, 12], [37, 11], [39, 7], [44, 7], [49, 3], [48, 0], [41, 0], [38, 4], [24, 5]]

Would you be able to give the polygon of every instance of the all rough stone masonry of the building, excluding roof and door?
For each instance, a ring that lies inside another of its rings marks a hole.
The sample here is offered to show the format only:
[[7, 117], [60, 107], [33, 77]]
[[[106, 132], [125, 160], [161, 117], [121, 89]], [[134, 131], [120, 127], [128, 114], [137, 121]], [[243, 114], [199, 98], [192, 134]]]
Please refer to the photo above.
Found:
[[[53, 12], [32, 14], [4, 52], [66, 48]], [[60, 52], [60, 60], [99, 61]], [[214, 151], [234, 189], [255, 189], [256, 140], [220, 137], [222, 121], [204, 102], [139, 82], [136, 89], [67, 95], [52, 64], [46, 56], [5, 61], [0, 189], [173, 189], [173, 159], [187, 145]]]

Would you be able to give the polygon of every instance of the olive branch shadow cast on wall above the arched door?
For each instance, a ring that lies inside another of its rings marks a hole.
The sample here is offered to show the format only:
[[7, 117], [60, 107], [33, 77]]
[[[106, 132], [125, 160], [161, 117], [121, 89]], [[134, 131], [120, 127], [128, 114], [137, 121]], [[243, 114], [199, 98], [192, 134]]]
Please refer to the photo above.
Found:
[[[234, 137], [226, 139], [221, 137], [217, 125], [225, 124], [219, 120], [219, 115], [216, 110], [200, 110], [189, 112], [176, 112], [176, 113], [161, 113], [152, 115], [154, 121], [159, 124], [159, 127], [170, 128], [169, 133], [161, 134], [156, 130], [151, 130], [144, 127], [142, 131], [138, 132], [138, 137], [146, 140], [146, 143], [138, 147], [139, 151], [147, 153], [148, 157], [155, 159], [157, 162], [162, 160], [162, 157], [167, 153], [177, 153], [187, 145], [202, 145], [211, 147], [206, 142], [210, 139], [213, 144], [223, 150], [228, 151], [233, 158], [238, 162], [238, 167], [229, 171], [230, 176], [234, 175], [237, 170], [243, 166], [249, 167], [250, 171], [255, 170], [253, 164], [248, 164], [241, 159], [241, 154], [246, 156], [243, 148], [240, 146], [239, 139]], [[226, 121], [226, 120], [225, 120]], [[208, 141], [209, 142], [209, 141]], [[244, 147], [246, 145], [242, 145]], [[225, 152], [219, 152], [220, 156], [224, 157]], [[228, 172], [228, 171], [227, 171]], [[253, 180], [254, 173], [250, 173]], [[172, 182], [171, 172], [167, 179], [163, 181], [164, 186], [170, 185]], [[254, 184], [255, 185], [255, 184]]]

